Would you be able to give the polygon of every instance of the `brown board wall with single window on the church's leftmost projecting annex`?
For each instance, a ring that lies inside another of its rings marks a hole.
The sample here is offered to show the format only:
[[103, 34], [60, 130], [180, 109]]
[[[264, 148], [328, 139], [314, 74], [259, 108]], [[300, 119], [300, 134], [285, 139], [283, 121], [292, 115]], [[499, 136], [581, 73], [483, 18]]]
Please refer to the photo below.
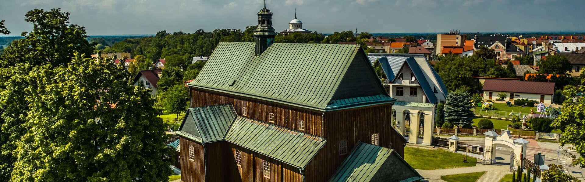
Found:
[[[205, 160], [203, 145], [192, 142], [188, 138], [181, 136], [179, 145], [181, 146], [181, 180], [189, 182], [205, 181]], [[195, 160], [189, 159], [189, 145], [193, 145]]]

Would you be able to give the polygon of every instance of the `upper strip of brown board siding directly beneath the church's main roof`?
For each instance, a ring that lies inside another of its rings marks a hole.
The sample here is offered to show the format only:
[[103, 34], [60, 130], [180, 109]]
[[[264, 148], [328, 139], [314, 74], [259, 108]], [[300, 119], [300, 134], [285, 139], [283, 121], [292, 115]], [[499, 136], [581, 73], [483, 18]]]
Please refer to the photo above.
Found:
[[[282, 106], [267, 101], [245, 97], [226, 95], [211, 90], [191, 88], [191, 107], [210, 106], [232, 103], [238, 115], [242, 115], [242, 107], [247, 108], [246, 117], [263, 122], [269, 122], [269, 114], [274, 114], [274, 124], [298, 131], [298, 121], [305, 122], [307, 134], [321, 136], [321, 116], [316, 111], [302, 110], [301, 108]], [[270, 123], [270, 122], [269, 122]]]

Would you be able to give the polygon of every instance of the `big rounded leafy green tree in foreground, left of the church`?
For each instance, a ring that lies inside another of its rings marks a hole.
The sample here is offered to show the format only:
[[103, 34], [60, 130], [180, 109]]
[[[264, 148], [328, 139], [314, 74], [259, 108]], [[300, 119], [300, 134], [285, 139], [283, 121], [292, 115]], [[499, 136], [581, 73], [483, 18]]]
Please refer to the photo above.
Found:
[[75, 57], [36, 67], [13, 181], [165, 181], [171, 149], [154, 99], [123, 65]]

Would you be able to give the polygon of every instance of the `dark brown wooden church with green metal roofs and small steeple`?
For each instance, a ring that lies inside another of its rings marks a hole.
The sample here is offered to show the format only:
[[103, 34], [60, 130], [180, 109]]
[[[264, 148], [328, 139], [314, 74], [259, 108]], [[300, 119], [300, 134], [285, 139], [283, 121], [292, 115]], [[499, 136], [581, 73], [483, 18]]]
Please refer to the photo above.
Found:
[[[266, 6], [266, 5], [265, 5]], [[359, 45], [221, 42], [188, 83], [182, 181], [419, 181], [388, 96]]]

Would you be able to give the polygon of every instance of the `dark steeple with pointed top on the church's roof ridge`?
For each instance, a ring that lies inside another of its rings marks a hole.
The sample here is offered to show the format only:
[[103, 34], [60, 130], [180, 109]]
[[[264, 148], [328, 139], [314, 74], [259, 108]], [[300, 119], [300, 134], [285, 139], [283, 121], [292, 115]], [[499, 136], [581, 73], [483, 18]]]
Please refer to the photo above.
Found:
[[254, 32], [254, 40], [256, 41], [256, 55], [260, 55], [274, 43], [276, 32], [272, 27], [272, 13], [266, 9], [266, 0], [264, 0], [264, 8], [260, 9], [257, 15], [258, 26]]

